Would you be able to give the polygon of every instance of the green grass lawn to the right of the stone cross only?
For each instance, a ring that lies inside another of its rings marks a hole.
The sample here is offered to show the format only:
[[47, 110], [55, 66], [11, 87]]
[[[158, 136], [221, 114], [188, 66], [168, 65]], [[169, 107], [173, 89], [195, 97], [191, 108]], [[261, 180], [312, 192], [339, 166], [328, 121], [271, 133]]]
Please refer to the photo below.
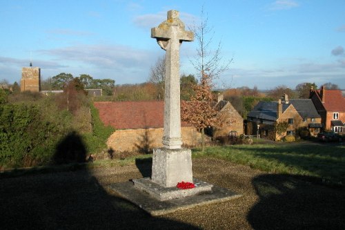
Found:
[[321, 178], [344, 184], [345, 146], [300, 143], [273, 143], [208, 147], [193, 157], [216, 157], [271, 173], [286, 173]]

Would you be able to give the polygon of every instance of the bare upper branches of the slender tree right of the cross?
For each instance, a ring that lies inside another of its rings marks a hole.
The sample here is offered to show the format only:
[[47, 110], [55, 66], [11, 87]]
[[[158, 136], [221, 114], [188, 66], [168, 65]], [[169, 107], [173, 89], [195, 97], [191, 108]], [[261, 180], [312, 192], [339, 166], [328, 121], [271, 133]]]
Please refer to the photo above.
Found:
[[[208, 17], [204, 16], [204, 7], [201, 8], [201, 22], [199, 25], [193, 25], [189, 28], [195, 35], [197, 41], [197, 54], [190, 60], [191, 64], [197, 70], [199, 75], [199, 82], [207, 82], [213, 86], [215, 79], [219, 78], [221, 73], [228, 70], [232, 60], [223, 61], [221, 56], [221, 41], [213, 48], [213, 27], [208, 26]], [[210, 35], [210, 36], [208, 36]], [[202, 80], [203, 77], [208, 76], [208, 80]]]

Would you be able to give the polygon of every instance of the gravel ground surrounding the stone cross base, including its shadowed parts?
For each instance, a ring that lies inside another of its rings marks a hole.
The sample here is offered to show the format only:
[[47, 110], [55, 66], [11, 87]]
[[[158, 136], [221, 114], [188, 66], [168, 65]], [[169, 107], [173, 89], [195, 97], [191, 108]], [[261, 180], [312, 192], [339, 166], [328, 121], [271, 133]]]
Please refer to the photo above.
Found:
[[0, 229], [345, 229], [344, 189], [213, 158], [195, 178], [243, 196], [153, 218], [108, 184], [142, 178], [149, 162], [0, 178]]

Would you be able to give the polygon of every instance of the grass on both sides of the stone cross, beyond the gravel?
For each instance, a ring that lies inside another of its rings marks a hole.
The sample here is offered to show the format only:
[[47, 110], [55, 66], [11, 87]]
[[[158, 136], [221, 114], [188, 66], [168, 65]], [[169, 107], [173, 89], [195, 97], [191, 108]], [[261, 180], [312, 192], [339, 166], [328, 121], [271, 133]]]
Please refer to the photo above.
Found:
[[[1, 172], [3, 176], [74, 171], [97, 167], [126, 166], [136, 162], [147, 162], [152, 154], [135, 155], [122, 160], [96, 160], [93, 163], [67, 164], [63, 166], [41, 166], [29, 169], [12, 169]], [[253, 145], [210, 146], [203, 152], [193, 149], [193, 157], [214, 157], [236, 164], [248, 165], [269, 173], [303, 175], [329, 182], [345, 182], [345, 146], [318, 144], [313, 142], [264, 143]]]

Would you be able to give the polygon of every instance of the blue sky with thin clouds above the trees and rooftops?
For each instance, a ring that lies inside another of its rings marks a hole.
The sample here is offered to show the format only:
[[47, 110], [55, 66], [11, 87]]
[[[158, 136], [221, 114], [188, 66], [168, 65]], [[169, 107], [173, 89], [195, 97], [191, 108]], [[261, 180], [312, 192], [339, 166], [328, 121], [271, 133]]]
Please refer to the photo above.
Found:
[[[0, 81], [20, 82], [21, 67], [41, 68], [43, 79], [59, 73], [115, 84], [146, 82], [164, 55], [150, 28], [179, 10], [186, 26], [200, 22], [201, 8], [221, 41], [230, 68], [219, 87], [268, 90], [299, 83], [332, 82], [345, 88], [344, 0], [0, 0]], [[206, 37], [208, 38], [208, 37]], [[181, 74], [194, 74], [196, 42], [181, 46]]]

